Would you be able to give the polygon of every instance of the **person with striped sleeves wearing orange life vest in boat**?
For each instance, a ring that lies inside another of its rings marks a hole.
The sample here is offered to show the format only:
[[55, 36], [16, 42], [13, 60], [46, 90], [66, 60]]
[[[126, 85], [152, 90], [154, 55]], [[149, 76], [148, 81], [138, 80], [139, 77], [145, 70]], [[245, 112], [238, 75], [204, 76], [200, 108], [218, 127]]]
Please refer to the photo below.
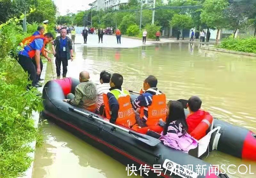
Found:
[[132, 101], [132, 108], [137, 111], [135, 118], [139, 127], [157, 126], [159, 121], [165, 122], [166, 99], [156, 85], [156, 77], [149, 75], [143, 82], [145, 92]]

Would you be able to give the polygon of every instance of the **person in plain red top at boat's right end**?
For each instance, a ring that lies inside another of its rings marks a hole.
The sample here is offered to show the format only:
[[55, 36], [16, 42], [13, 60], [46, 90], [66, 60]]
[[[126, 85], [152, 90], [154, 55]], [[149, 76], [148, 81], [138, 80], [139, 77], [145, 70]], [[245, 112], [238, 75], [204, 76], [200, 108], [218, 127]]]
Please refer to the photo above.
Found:
[[209, 112], [201, 110], [202, 101], [197, 96], [192, 96], [188, 99], [187, 107], [189, 109], [189, 115], [187, 117], [188, 134], [190, 134], [196, 126], [204, 119]]

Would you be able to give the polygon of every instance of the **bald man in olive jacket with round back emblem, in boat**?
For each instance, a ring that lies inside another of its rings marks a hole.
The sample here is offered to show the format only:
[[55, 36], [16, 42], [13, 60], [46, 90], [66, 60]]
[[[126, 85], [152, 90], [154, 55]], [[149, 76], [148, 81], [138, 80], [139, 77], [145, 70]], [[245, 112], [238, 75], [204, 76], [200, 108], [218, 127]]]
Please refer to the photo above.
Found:
[[90, 74], [83, 71], [79, 74], [80, 83], [75, 88], [75, 95], [69, 93], [68, 99], [63, 101], [69, 104], [80, 106], [88, 111], [95, 112], [97, 109], [97, 89], [90, 79]]

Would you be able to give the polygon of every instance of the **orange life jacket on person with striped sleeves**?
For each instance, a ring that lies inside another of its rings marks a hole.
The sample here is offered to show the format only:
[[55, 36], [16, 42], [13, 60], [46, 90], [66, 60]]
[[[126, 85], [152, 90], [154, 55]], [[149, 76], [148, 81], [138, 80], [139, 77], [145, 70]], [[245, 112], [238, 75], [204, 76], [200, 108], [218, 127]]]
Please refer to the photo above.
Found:
[[[144, 116], [144, 109], [148, 110], [147, 126], [157, 126], [159, 120], [164, 122], [166, 120], [166, 98], [163, 93], [154, 89], [148, 89], [147, 91], [156, 92], [156, 95], [153, 95], [150, 106], [140, 108], [140, 118], [142, 119]], [[140, 92], [142, 92], [142, 90]]]

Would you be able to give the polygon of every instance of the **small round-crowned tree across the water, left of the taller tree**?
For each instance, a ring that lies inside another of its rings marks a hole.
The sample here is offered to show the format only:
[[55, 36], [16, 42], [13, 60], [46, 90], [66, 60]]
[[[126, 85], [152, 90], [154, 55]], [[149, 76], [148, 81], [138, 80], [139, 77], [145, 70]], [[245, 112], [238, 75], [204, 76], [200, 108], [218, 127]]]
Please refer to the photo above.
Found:
[[[170, 21], [170, 25], [184, 30], [192, 27], [193, 20], [190, 16], [186, 14], [175, 14], [172, 17], [172, 20]], [[183, 34], [182, 34], [182, 39], [184, 40]]]

